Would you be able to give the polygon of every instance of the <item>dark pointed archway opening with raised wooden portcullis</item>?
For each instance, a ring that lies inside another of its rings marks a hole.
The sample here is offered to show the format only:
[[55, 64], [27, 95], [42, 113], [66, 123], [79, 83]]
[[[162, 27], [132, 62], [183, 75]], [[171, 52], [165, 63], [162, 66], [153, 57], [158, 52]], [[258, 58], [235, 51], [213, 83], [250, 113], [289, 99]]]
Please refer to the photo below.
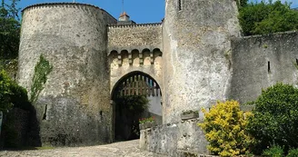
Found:
[[114, 141], [138, 139], [141, 118], [154, 116], [156, 123], [162, 123], [161, 95], [160, 86], [148, 74], [133, 72], [120, 79], [112, 92]]

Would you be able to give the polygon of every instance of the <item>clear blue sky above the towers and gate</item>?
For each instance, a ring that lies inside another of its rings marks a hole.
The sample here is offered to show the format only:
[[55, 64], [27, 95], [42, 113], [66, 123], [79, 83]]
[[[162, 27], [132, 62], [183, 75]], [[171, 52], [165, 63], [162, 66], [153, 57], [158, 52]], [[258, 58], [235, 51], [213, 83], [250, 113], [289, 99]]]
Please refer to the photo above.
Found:
[[[164, 18], [164, 1], [165, 0], [124, 0], [124, 11], [126, 11], [136, 23], [157, 23], [161, 22]], [[282, 1], [284, 2], [285, 0]], [[21, 0], [19, 7], [23, 9], [28, 5], [53, 2], [73, 2], [73, 0]], [[122, 0], [75, 0], [75, 2], [97, 5], [115, 18], [118, 18], [122, 12]], [[293, 2], [292, 7], [298, 7], [298, 0], [287, 0], [287, 2]]]

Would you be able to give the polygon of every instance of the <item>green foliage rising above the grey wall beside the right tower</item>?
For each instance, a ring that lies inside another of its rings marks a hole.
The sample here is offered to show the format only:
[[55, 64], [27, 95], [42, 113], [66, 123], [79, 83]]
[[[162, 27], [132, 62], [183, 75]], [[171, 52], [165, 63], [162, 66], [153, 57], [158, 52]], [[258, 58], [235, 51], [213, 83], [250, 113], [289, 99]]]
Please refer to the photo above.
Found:
[[298, 12], [281, 1], [248, 3], [239, 7], [239, 22], [244, 35], [298, 30]]

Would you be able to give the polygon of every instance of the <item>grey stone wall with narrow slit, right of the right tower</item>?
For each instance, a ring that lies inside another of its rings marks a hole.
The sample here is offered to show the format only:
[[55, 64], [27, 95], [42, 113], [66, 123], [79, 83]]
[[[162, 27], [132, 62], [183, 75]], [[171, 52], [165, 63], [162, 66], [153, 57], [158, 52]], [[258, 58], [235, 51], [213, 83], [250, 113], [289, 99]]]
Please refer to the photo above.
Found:
[[233, 79], [229, 97], [246, 103], [255, 100], [262, 89], [274, 83], [297, 85], [297, 41], [297, 32], [234, 39]]

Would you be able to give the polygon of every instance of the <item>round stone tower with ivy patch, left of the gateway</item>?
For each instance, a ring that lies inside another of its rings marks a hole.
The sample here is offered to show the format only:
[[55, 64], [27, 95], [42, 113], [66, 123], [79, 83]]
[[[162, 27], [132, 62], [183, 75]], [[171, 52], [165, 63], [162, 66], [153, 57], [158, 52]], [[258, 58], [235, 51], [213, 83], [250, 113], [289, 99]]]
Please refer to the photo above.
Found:
[[[37, 97], [32, 101], [43, 144], [112, 141], [106, 25], [115, 22], [94, 5], [41, 4], [24, 9], [18, 83], [29, 97]], [[47, 62], [52, 69], [45, 67]], [[40, 71], [46, 68], [49, 74], [42, 78]]]

